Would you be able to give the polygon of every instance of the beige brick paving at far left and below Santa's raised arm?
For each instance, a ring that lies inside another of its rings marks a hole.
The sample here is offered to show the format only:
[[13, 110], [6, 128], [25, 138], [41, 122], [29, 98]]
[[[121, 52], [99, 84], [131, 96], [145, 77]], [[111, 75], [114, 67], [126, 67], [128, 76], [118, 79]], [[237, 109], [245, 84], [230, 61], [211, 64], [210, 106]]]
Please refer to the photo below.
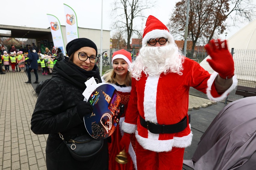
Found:
[[[35, 135], [30, 130], [37, 98], [32, 85], [24, 83], [27, 80], [26, 72], [0, 75], [0, 170], [46, 169], [48, 135]], [[207, 102], [210, 101], [189, 95], [189, 107]]]

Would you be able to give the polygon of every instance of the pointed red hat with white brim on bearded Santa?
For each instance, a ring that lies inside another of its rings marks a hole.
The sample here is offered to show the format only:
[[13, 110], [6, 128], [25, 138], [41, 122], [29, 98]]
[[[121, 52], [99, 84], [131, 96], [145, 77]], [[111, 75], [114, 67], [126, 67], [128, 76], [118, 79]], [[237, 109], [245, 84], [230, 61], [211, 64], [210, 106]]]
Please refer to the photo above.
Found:
[[146, 45], [151, 38], [161, 37], [168, 39], [169, 43], [174, 43], [174, 39], [169, 33], [168, 28], [156, 17], [152, 15], [148, 16], [142, 36], [142, 45]]

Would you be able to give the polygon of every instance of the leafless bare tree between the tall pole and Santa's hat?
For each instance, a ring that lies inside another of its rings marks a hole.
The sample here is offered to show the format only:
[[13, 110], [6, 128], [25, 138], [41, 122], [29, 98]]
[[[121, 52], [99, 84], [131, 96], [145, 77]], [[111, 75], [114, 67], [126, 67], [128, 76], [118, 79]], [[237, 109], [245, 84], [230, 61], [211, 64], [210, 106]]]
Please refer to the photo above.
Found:
[[127, 51], [130, 51], [130, 40], [133, 33], [140, 34], [134, 27], [135, 19], [145, 18], [142, 11], [154, 6], [154, 2], [147, 0], [116, 0], [113, 5], [112, 13], [115, 22], [114, 27], [120, 29], [127, 36]]

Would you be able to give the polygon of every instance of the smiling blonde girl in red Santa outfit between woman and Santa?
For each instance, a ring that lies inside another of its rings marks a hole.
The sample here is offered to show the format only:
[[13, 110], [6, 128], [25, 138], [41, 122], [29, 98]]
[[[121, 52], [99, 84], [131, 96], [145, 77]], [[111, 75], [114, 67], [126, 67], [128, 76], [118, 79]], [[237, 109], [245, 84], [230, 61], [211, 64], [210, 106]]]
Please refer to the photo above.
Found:
[[[128, 71], [128, 67], [132, 62], [131, 53], [121, 49], [113, 53], [112, 56], [112, 66], [113, 69], [107, 71], [102, 76], [102, 82], [111, 84], [117, 89], [119, 95], [121, 96], [121, 103], [124, 105], [124, 113], [126, 111], [128, 101], [130, 98], [132, 77], [131, 72]], [[135, 136], [131, 136], [131, 142], [129, 145], [128, 163], [119, 164], [115, 161], [116, 155], [123, 150], [120, 148], [120, 140], [123, 136], [122, 123], [125, 119], [125, 114], [121, 115], [118, 122], [116, 130], [109, 137], [111, 140], [108, 142], [108, 153], [109, 153], [109, 168], [108, 169], [119, 169], [119, 170], [132, 170], [136, 167], [136, 146], [135, 146]], [[134, 165], [133, 165], [134, 164]]]

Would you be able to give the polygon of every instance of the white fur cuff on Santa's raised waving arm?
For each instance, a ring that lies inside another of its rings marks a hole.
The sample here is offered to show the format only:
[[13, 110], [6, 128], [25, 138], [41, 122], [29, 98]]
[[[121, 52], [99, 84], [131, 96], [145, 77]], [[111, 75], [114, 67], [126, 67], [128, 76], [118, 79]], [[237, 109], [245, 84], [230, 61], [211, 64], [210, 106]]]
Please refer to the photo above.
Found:
[[211, 101], [222, 101], [224, 100], [228, 93], [230, 93], [233, 89], [236, 88], [236, 85], [237, 85], [237, 78], [236, 78], [236, 75], [233, 76], [233, 84], [219, 97], [213, 97], [212, 94], [211, 94], [211, 89], [212, 89], [212, 84], [215, 80], [215, 78], [217, 77], [218, 73], [217, 72], [214, 72], [210, 78], [208, 79], [207, 81], [207, 89], [206, 89], [206, 95], [207, 97], [211, 100]]

